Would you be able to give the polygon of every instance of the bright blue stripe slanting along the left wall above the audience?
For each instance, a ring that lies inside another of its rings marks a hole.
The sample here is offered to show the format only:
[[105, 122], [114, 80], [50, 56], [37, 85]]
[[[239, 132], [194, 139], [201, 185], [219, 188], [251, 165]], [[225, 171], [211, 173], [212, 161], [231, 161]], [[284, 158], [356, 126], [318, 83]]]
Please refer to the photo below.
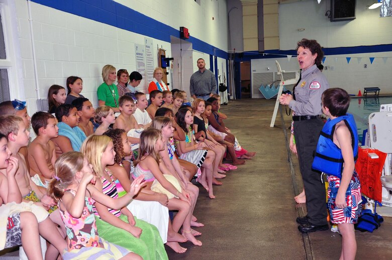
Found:
[[[108, 24], [133, 33], [170, 42], [170, 36], [179, 38], [179, 29], [158, 22], [113, 0], [32, 0], [33, 2], [73, 15]], [[228, 53], [195, 37], [188, 39], [194, 50], [228, 59]], [[214, 53], [215, 50], [215, 53]]]

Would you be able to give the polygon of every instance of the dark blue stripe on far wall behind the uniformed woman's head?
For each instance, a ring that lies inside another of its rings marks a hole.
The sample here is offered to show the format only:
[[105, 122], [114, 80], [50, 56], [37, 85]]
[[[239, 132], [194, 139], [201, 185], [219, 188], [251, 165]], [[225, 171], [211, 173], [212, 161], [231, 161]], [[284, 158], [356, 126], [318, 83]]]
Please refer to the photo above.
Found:
[[[353, 46], [353, 47], [336, 47], [323, 48], [324, 55], [347, 55], [360, 53], [374, 53], [374, 52], [391, 52], [392, 44], [381, 44], [371, 46]], [[235, 61], [250, 61], [252, 59], [275, 59], [284, 58], [285, 55], [297, 56], [296, 50], [267, 50], [263, 56], [262, 52], [250, 51], [243, 53], [236, 53]]]

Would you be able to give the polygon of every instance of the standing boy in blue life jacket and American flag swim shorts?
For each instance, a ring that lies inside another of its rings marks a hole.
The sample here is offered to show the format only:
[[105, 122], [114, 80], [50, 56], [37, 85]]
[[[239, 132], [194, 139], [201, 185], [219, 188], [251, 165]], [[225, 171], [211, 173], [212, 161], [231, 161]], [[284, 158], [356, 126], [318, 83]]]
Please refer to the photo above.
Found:
[[344, 89], [330, 88], [322, 95], [323, 113], [329, 117], [317, 144], [314, 170], [328, 175], [328, 209], [331, 222], [342, 234], [340, 259], [355, 259], [354, 223], [361, 212], [361, 187], [355, 172], [358, 156], [357, 127], [347, 114], [350, 96]]

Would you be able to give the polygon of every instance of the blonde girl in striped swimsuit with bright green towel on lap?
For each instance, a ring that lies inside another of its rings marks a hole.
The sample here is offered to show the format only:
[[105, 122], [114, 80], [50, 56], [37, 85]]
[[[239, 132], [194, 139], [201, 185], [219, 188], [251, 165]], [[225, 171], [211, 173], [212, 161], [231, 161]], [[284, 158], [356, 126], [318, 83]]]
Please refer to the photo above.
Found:
[[[84, 141], [81, 152], [95, 173], [94, 187], [115, 200], [121, 200], [123, 197], [119, 198], [112, 173], [107, 169], [108, 165], [115, 163], [113, 147], [110, 137], [93, 135]], [[162, 238], [154, 225], [135, 218], [126, 207], [115, 209], [96, 202], [93, 210], [96, 226], [103, 238], [139, 254], [143, 259], [167, 259]]]

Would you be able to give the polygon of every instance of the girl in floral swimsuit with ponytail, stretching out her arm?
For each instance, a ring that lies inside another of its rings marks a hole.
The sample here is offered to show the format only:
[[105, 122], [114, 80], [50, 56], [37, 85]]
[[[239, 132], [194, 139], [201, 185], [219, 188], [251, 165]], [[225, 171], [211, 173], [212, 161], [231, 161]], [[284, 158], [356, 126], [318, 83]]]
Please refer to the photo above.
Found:
[[64, 259], [142, 259], [128, 249], [108, 242], [99, 235], [93, 215], [94, 203], [120, 209], [140, 190], [142, 178], [134, 181], [130, 192], [121, 199], [113, 199], [97, 190], [91, 165], [82, 153], [67, 152], [55, 163], [55, 175], [49, 184], [49, 194], [58, 200], [61, 218], [67, 229], [67, 250]]

